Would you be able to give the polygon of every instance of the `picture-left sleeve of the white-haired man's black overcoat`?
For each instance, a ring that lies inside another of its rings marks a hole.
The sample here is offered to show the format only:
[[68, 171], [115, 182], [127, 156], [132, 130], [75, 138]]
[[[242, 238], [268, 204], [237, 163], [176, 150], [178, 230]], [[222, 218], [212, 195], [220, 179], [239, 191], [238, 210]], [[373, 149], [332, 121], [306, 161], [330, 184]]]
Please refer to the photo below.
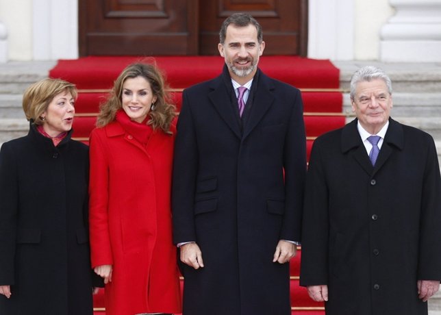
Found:
[[328, 189], [318, 140], [311, 151], [307, 170], [300, 285], [318, 286], [328, 282]]

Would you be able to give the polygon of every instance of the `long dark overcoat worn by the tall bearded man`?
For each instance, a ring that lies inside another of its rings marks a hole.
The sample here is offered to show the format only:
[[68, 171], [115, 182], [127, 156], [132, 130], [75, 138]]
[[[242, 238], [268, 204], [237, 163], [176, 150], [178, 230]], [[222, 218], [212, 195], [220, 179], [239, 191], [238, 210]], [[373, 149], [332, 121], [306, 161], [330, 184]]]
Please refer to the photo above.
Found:
[[260, 71], [254, 80], [242, 130], [226, 68], [184, 90], [174, 240], [196, 241], [205, 264], [183, 268], [184, 315], [290, 314], [289, 266], [272, 260], [279, 240], [301, 237], [303, 104], [297, 88]]

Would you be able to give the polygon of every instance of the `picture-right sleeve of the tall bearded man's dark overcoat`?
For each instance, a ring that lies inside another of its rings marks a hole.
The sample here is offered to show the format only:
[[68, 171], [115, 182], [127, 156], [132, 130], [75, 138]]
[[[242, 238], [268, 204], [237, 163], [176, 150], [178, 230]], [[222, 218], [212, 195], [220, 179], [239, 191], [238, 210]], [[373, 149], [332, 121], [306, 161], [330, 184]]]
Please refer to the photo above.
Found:
[[280, 239], [300, 242], [306, 175], [306, 136], [303, 103], [300, 91], [296, 91], [283, 150], [285, 212]]

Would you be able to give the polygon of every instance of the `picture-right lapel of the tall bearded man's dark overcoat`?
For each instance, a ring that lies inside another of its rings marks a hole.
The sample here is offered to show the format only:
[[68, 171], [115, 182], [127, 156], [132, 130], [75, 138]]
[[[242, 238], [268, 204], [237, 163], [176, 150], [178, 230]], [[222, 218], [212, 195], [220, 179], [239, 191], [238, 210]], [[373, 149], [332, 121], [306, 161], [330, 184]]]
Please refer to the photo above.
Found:
[[[270, 79], [266, 75], [264, 75], [264, 73], [262, 73], [262, 71], [260, 71], [259, 69], [257, 69], [257, 71], [259, 73], [257, 73], [256, 75], [258, 77], [258, 81], [256, 82], [257, 88], [255, 89], [253, 108], [249, 114], [247, 123], [244, 125], [243, 139], [247, 138], [247, 136], [262, 120], [265, 113], [274, 103], [273, 84], [271, 83]], [[254, 83], [255, 82], [253, 82], [253, 84]]]

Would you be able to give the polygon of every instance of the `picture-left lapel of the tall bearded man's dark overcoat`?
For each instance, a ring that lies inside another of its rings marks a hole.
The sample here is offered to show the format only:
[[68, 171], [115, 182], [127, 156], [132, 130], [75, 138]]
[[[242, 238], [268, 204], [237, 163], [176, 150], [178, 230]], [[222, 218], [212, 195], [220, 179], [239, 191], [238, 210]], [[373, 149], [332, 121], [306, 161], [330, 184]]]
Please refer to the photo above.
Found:
[[212, 102], [214, 108], [220, 115], [220, 117], [225, 121], [231, 131], [236, 134], [238, 138], [241, 138], [240, 126], [238, 124], [238, 118], [236, 113], [231, 108], [230, 93], [223, 83], [222, 75], [217, 77], [212, 82], [212, 92], [208, 95], [210, 101]]

